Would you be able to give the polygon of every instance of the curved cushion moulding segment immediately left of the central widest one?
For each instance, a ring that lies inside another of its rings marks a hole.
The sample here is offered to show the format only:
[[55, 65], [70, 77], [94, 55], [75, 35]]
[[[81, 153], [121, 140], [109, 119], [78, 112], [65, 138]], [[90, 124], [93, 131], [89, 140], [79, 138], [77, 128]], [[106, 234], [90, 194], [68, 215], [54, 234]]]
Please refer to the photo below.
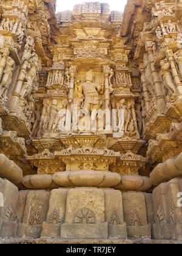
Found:
[[52, 179], [53, 181], [59, 185], [59, 187], [73, 187], [73, 184], [70, 182], [69, 179], [70, 172], [56, 172], [53, 174]]

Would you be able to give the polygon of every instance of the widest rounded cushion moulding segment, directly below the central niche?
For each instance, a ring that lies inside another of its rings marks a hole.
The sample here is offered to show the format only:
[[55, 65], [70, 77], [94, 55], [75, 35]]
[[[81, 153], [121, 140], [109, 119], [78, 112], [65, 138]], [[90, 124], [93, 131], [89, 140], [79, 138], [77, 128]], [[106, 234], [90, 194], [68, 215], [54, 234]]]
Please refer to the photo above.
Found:
[[104, 175], [100, 171], [73, 171], [69, 179], [76, 187], [96, 187], [103, 181]]

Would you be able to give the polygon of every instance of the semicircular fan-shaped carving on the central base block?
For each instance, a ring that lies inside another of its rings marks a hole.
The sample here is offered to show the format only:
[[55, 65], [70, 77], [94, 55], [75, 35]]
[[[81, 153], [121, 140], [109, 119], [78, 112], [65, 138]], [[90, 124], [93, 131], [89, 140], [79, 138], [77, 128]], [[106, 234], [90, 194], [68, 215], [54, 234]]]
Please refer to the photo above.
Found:
[[95, 223], [95, 215], [91, 210], [84, 208], [76, 214], [73, 223], [93, 224]]

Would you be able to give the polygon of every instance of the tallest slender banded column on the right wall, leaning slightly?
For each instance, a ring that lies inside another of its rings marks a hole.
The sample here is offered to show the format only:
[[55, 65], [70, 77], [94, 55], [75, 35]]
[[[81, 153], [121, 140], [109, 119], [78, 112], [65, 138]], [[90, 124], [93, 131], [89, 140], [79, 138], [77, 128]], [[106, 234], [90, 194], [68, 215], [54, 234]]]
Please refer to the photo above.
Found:
[[166, 108], [166, 101], [165, 101], [165, 96], [164, 96], [163, 90], [162, 90], [160, 75], [154, 65], [154, 57], [153, 57], [152, 47], [153, 47], [153, 42], [151, 40], [146, 40], [146, 51], [149, 54], [150, 68], [152, 70], [152, 76], [153, 76], [153, 81], [154, 81], [154, 85], [155, 85], [155, 93], [157, 95], [158, 112], [164, 113], [165, 108]]

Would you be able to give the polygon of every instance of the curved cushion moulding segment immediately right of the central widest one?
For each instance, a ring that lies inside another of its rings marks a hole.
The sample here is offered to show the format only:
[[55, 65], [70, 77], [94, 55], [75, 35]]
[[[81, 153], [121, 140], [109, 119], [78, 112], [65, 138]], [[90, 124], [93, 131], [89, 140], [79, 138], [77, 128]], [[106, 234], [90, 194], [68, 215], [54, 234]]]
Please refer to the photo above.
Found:
[[121, 176], [116, 172], [103, 172], [103, 174], [104, 174], [104, 179], [98, 185], [99, 188], [115, 187], [121, 182]]

